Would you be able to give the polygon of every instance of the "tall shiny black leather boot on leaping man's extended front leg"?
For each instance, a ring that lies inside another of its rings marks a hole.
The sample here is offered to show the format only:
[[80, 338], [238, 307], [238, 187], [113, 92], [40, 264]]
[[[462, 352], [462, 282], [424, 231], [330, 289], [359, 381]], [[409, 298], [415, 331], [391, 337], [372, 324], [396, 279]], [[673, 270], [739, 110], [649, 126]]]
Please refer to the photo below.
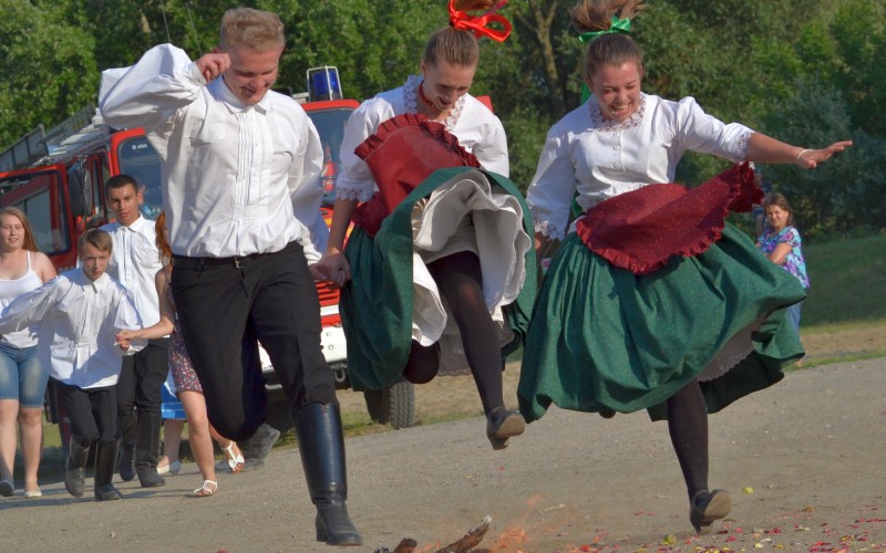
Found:
[[348, 476], [339, 406], [311, 404], [301, 409], [295, 420], [308, 491], [317, 505], [317, 541], [328, 545], [361, 545], [363, 539], [344, 504]]

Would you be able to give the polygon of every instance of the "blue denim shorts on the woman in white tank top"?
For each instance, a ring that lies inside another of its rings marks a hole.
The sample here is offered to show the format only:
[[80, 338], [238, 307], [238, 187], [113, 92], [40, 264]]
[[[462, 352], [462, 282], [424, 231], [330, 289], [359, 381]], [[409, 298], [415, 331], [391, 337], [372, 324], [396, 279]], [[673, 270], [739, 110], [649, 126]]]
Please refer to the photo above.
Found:
[[43, 407], [47, 380], [49, 371], [37, 358], [37, 346], [0, 344], [0, 399], [17, 399], [19, 407]]

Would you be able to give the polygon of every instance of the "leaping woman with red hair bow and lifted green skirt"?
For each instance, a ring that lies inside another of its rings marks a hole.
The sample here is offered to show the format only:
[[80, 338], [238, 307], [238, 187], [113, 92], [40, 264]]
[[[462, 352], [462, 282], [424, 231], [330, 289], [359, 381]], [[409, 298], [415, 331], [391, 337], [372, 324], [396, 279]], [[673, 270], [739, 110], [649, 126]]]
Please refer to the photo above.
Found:
[[[450, 25], [429, 40], [421, 75], [351, 115], [319, 263], [342, 286], [354, 388], [383, 389], [401, 377], [422, 384], [465, 367], [495, 449], [525, 427], [505, 407], [502, 359], [521, 344], [535, 298], [526, 279], [535, 265], [532, 221], [507, 179], [504, 127], [467, 93], [477, 36], [501, 41], [509, 32], [494, 13], [503, 4], [452, 0]], [[467, 13], [475, 10], [485, 13]], [[502, 29], [484, 27], [488, 21]], [[453, 169], [435, 173], [443, 168]]]

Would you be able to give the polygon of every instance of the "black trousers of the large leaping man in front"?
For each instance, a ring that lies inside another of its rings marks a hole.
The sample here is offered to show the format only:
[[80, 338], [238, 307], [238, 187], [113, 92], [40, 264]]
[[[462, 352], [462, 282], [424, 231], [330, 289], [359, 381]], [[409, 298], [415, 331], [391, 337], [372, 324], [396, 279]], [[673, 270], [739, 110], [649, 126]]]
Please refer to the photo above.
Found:
[[244, 440], [267, 418], [265, 379], [253, 362], [256, 338], [293, 417], [309, 404], [337, 403], [320, 345], [320, 302], [301, 244], [245, 258], [175, 255], [171, 286], [209, 420], [223, 436]]

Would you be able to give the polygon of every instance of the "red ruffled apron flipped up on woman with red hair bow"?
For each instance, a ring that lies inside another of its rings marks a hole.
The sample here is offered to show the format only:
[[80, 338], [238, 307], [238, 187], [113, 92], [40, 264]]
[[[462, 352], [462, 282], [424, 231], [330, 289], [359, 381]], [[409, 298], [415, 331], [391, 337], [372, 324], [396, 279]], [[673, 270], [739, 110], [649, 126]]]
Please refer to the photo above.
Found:
[[437, 169], [480, 167], [476, 156], [446, 127], [422, 114], [403, 114], [379, 125], [354, 154], [363, 159], [379, 191], [357, 208], [353, 223], [375, 236], [381, 221]]

